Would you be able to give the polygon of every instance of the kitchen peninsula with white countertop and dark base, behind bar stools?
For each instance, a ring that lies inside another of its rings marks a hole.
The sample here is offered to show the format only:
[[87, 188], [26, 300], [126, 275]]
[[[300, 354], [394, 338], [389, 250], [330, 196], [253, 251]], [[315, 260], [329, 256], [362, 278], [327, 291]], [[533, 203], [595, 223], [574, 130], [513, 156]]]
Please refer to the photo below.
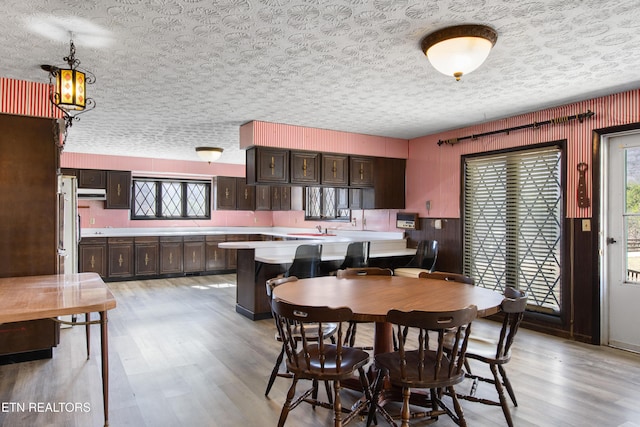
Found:
[[252, 320], [271, 316], [265, 282], [287, 271], [296, 248], [302, 244], [322, 245], [321, 268], [325, 273], [338, 268], [351, 242], [371, 242], [369, 262], [372, 266], [394, 268], [405, 264], [415, 254], [415, 249], [407, 248], [402, 232], [288, 232], [280, 237], [286, 240], [225, 242], [219, 245], [237, 250], [236, 312]]

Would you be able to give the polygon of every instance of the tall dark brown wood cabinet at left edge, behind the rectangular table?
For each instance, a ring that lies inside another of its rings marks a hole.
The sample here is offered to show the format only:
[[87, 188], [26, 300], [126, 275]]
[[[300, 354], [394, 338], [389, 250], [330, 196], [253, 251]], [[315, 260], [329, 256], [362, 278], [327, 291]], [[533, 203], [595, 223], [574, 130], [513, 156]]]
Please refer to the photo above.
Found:
[[[51, 119], [0, 114], [0, 277], [56, 274], [57, 168]], [[0, 325], [0, 356], [51, 357], [51, 320]], [[33, 358], [33, 357], [31, 357]]]

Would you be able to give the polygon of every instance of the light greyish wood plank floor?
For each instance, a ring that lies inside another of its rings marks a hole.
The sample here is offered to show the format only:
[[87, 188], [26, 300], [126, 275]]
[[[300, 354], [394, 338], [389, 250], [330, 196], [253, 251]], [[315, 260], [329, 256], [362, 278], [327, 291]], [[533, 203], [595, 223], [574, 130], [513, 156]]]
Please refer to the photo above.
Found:
[[[109, 312], [111, 426], [277, 425], [290, 383], [278, 378], [264, 396], [279, 350], [275, 327], [270, 319], [252, 322], [235, 312], [235, 275], [109, 286], [118, 301]], [[487, 326], [474, 322], [476, 329]], [[76, 326], [62, 330], [53, 359], [0, 366], [0, 425], [102, 425], [94, 328], [89, 361], [84, 330]], [[362, 325], [358, 338], [370, 342], [372, 328]], [[521, 330], [507, 372], [519, 402], [512, 408], [517, 426], [640, 426], [640, 355]], [[479, 392], [493, 395], [487, 384]], [[29, 411], [31, 403], [69, 402], [83, 411]], [[470, 426], [505, 425], [499, 407], [462, 405]], [[328, 410], [301, 405], [287, 426], [333, 425], [331, 420]], [[358, 419], [350, 425], [364, 424]], [[435, 425], [454, 424], [441, 417]]]

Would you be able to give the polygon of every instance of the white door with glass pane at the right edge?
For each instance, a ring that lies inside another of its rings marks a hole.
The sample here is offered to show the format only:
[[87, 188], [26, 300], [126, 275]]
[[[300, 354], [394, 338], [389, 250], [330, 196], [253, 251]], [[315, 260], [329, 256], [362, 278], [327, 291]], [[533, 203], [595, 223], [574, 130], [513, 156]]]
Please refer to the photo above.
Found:
[[604, 146], [603, 343], [640, 352], [640, 133]]

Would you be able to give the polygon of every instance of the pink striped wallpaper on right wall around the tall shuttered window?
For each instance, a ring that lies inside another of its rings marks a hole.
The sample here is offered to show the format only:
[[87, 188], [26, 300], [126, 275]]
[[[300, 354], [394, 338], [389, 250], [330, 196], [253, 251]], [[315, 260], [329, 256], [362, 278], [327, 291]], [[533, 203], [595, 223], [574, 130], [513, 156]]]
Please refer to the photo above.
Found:
[[[595, 115], [582, 123], [574, 120], [509, 134], [500, 133], [476, 140], [463, 140], [454, 146], [437, 144], [439, 140], [543, 122], [588, 110]], [[591, 216], [591, 208], [579, 208], [577, 205], [576, 167], [580, 162], [589, 165], [587, 191], [593, 200], [593, 183], [590, 178], [592, 131], [637, 122], [640, 122], [640, 90], [633, 90], [413, 139], [409, 141], [407, 160], [406, 210], [418, 212], [420, 217], [459, 218], [460, 156], [566, 139], [566, 215], [568, 218], [588, 218]], [[427, 200], [431, 201], [429, 212], [426, 210]]]

